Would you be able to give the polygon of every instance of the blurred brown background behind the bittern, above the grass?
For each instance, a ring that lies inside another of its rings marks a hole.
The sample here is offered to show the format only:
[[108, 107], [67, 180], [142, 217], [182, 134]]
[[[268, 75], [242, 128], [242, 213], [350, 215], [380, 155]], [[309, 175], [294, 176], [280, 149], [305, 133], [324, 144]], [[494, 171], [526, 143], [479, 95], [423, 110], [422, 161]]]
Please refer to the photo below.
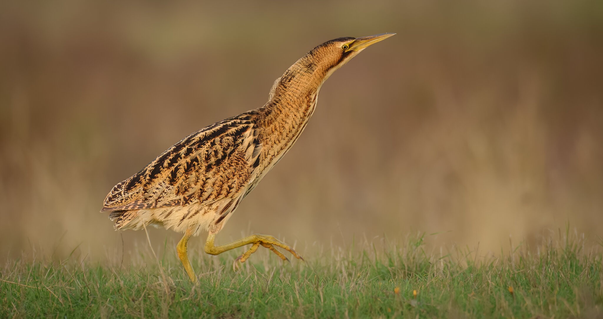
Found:
[[219, 242], [603, 235], [602, 1], [2, 1], [0, 259], [121, 250], [98, 212], [113, 185], [264, 105], [314, 46], [385, 32], [326, 82]]

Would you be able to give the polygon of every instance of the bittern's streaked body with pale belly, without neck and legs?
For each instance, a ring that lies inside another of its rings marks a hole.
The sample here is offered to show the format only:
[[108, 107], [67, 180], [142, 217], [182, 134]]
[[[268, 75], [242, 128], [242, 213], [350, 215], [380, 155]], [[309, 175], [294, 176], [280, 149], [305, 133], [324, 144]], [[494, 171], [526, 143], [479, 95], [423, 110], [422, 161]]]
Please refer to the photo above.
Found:
[[254, 129], [257, 115], [251, 111], [203, 128], [115, 185], [103, 207], [112, 210], [115, 228], [153, 223], [185, 232], [210, 210], [213, 226], [220, 224], [257, 171], [262, 150]]

